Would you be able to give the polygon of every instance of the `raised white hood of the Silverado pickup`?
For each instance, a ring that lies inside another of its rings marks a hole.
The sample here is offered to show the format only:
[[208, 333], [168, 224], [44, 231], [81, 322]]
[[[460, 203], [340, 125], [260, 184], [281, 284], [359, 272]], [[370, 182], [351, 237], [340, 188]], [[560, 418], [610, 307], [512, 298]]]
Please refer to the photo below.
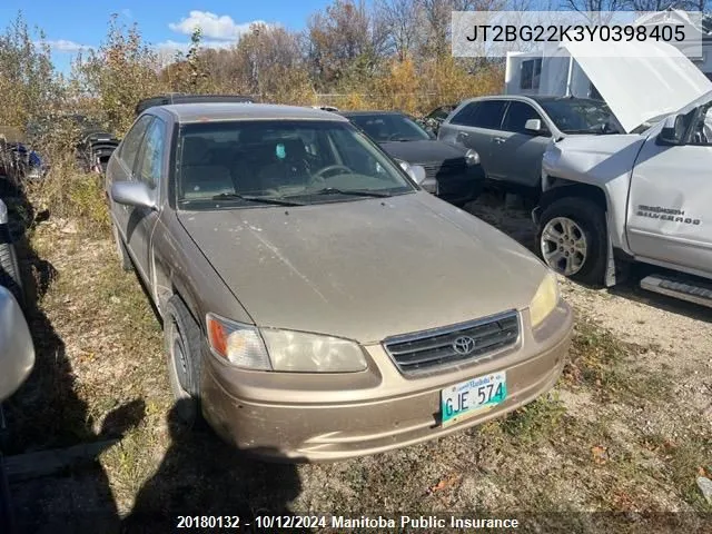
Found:
[[[712, 90], [712, 81], [671, 44], [626, 42], [631, 49], [624, 57], [616, 57], [613, 50], [617, 46], [568, 42], [554, 56], [568, 53], [576, 60], [626, 132]], [[634, 53], [635, 47], [639, 53]]]

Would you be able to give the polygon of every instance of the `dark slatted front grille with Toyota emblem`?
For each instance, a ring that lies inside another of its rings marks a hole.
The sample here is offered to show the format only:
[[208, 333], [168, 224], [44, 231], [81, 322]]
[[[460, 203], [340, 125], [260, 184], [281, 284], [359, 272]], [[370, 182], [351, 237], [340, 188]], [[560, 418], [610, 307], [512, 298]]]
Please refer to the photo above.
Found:
[[413, 375], [472, 363], [514, 345], [518, 337], [518, 315], [510, 310], [469, 323], [389, 337], [383, 344], [398, 369], [404, 375]]

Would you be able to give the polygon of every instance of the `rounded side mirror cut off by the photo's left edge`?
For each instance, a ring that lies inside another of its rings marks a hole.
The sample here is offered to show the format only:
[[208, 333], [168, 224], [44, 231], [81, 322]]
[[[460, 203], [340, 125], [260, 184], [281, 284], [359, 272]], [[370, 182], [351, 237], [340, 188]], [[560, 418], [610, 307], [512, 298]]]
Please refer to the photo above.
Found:
[[34, 366], [34, 346], [22, 309], [0, 286], [0, 400], [12, 395]]

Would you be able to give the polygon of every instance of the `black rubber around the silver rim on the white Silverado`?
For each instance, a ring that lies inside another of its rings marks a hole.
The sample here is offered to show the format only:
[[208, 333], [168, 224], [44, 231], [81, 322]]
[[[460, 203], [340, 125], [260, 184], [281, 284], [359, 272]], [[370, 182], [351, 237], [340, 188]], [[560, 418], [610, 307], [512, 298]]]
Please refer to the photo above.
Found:
[[[596, 204], [580, 197], [564, 197], [550, 204], [540, 220], [536, 231], [536, 249], [544, 261], [554, 270], [564, 274], [556, 265], [551, 265], [544, 254], [546, 245], [542, 235], [554, 219], [570, 219], [582, 230], [586, 244], [586, 254], [578, 270], [568, 276], [571, 279], [591, 286], [603, 285], [606, 269], [606, 222], [605, 211]], [[551, 243], [550, 243], [551, 245]]]

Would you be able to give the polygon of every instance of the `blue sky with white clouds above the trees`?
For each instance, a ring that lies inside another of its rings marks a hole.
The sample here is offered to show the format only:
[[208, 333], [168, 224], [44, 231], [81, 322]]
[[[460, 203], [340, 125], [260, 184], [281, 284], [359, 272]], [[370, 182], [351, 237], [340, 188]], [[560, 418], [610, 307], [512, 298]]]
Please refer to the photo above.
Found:
[[30, 27], [39, 27], [52, 44], [57, 68], [69, 71], [71, 58], [82, 47], [98, 46], [107, 31], [111, 13], [126, 23], [138, 23], [144, 38], [157, 47], [179, 47], [189, 40], [196, 23], [204, 28], [210, 46], [225, 46], [253, 21], [280, 23], [289, 29], [305, 27], [310, 13], [328, 0], [123, 0], [101, 2], [73, 0], [0, 0], [0, 31], [22, 11]]

